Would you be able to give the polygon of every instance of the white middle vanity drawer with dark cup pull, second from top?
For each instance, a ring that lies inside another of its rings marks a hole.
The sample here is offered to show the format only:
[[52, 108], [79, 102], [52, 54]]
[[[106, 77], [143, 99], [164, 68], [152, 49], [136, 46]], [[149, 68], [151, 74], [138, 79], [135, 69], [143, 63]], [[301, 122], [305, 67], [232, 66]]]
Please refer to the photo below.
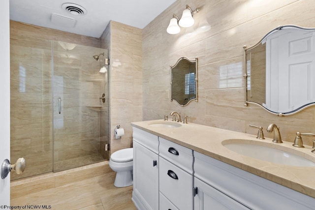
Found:
[[162, 157], [158, 160], [159, 191], [178, 209], [193, 209], [193, 176]]

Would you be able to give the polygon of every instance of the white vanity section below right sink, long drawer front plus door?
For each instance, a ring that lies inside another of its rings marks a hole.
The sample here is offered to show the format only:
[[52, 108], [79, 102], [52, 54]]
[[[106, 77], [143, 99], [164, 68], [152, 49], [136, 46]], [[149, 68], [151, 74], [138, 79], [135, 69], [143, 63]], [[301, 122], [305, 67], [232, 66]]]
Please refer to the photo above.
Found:
[[[194, 151], [194, 177], [194, 184], [197, 187], [194, 210], [315, 209], [315, 199], [312, 197], [196, 151]], [[233, 208], [225, 206], [233, 203], [235, 204]]]

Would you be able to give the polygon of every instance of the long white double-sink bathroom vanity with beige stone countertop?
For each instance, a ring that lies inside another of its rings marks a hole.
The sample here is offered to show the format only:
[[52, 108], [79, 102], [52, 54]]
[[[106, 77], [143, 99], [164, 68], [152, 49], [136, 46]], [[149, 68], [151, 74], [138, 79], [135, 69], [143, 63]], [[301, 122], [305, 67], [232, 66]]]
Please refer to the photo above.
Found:
[[310, 146], [278, 146], [272, 139], [193, 123], [151, 120], [132, 126], [132, 200], [139, 210], [315, 208], [314, 166], [263, 161], [224, 144], [268, 144], [300, 156], [305, 152], [315, 162]]

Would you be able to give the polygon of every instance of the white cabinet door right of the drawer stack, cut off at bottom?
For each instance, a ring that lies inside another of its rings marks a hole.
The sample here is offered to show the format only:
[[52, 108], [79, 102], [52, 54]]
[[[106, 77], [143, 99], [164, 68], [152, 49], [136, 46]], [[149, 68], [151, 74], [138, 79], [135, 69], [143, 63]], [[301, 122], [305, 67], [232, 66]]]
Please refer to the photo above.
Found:
[[197, 194], [194, 197], [194, 210], [249, 210], [197, 178], [194, 178], [194, 186], [197, 187]]

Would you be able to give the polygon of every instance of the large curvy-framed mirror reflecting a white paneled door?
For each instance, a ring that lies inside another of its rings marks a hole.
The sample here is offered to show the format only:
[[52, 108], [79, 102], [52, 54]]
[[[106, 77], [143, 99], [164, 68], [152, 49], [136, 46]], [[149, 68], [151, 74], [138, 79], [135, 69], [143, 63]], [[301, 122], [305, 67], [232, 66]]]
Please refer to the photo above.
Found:
[[245, 106], [283, 117], [315, 105], [315, 29], [280, 26], [243, 48]]

